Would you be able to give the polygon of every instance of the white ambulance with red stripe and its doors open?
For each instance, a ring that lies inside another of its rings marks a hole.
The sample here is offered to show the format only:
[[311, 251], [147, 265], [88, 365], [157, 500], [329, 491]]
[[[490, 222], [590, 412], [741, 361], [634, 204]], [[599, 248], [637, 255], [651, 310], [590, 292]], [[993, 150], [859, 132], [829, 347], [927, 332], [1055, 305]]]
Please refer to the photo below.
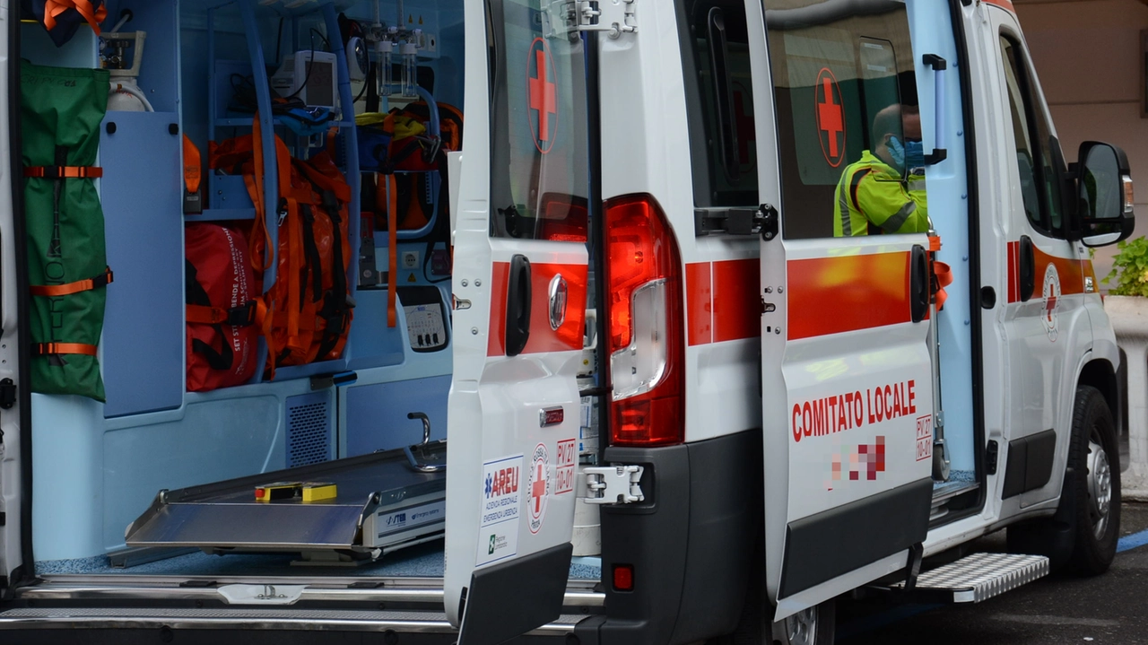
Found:
[[[1088, 249], [1132, 233], [1132, 180], [1115, 146], [1066, 162], [1009, 0], [48, 2], [103, 20], [64, 44], [37, 5], [0, 3], [0, 640], [825, 644], [854, 590], [1112, 561]], [[22, 60], [134, 73], [99, 174], [22, 170]], [[274, 84], [334, 129], [287, 127]], [[416, 99], [426, 145], [444, 103], [465, 133], [396, 231], [351, 117]], [[363, 213], [346, 347], [263, 370], [264, 340], [192, 391], [187, 227], [287, 211], [214, 163], [188, 208], [184, 137], [272, 133]], [[916, 232], [835, 235], [866, 155]], [[100, 192], [103, 401], [30, 376], [64, 350], [31, 349], [25, 174]]]

